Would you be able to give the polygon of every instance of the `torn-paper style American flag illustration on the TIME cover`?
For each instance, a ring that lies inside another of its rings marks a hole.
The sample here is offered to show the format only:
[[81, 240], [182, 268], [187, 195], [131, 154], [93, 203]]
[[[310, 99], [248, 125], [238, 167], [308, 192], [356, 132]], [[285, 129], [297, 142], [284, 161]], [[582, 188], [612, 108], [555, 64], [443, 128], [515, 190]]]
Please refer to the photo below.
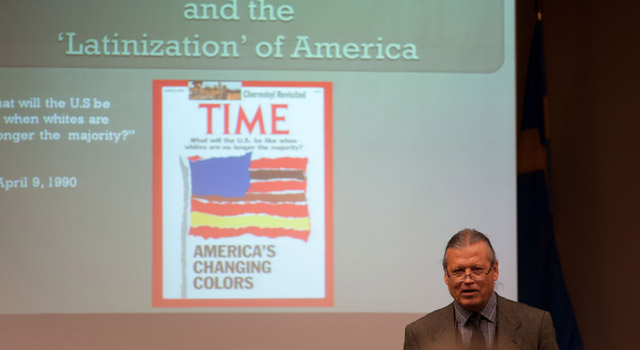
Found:
[[189, 158], [190, 235], [253, 234], [307, 241], [307, 158]]

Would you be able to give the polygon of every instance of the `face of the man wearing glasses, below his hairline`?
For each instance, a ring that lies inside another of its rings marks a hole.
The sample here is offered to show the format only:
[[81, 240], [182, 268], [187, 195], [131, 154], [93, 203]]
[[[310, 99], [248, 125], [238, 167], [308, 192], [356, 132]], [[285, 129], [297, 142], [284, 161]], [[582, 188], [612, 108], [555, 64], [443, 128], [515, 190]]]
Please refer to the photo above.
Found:
[[[447, 271], [449, 274], [455, 270], [462, 270], [470, 274], [474, 268], [482, 268], [486, 272], [491, 267], [489, 261], [489, 247], [484, 242], [470, 244], [462, 249], [449, 248], [445, 254], [447, 259]], [[444, 274], [444, 283], [449, 287], [449, 293], [462, 307], [471, 311], [480, 311], [487, 305], [493, 294], [494, 282], [498, 279], [498, 261], [481, 281], [474, 281], [466, 277], [464, 281]]]

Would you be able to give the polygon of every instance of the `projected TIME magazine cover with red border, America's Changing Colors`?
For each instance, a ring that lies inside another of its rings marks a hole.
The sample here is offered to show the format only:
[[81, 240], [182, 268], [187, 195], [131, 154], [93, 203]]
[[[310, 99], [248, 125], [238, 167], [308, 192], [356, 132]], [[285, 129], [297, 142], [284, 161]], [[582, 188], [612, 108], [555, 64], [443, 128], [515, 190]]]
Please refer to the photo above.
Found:
[[330, 83], [154, 82], [154, 305], [330, 306]]

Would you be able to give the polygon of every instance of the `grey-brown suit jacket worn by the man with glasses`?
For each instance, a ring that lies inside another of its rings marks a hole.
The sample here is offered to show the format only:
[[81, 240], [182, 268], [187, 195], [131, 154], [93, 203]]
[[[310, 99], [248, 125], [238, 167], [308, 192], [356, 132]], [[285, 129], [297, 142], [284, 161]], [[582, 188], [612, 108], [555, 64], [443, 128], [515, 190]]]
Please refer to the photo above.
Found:
[[[498, 297], [494, 349], [557, 350], [551, 315], [543, 310]], [[453, 303], [407, 325], [404, 350], [454, 350], [456, 325]]]

